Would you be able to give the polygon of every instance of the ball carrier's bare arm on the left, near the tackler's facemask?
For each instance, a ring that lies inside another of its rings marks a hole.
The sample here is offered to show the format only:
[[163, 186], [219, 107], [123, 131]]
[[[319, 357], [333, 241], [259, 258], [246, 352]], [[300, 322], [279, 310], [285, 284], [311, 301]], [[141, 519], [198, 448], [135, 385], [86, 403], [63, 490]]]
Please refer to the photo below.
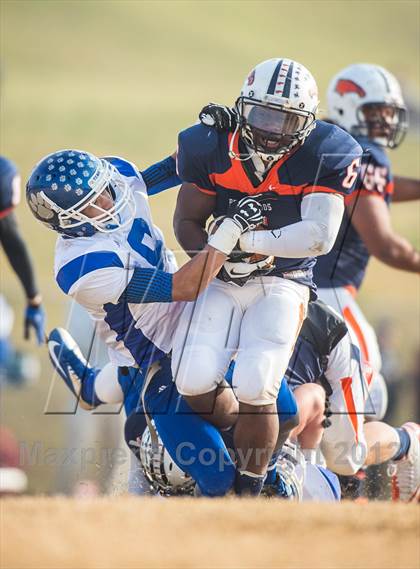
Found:
[[205, 194], [197, 186], [184, 183], [178, 194], [173, 226], [181, 247], [190, 257], [207, 243], [206, 221], [216, 205], [216, 197]]

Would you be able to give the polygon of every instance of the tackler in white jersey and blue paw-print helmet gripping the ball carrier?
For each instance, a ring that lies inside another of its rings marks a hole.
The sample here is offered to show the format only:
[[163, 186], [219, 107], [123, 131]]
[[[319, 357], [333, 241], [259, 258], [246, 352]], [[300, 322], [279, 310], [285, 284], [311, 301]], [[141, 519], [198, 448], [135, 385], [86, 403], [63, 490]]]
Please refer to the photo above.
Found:
[[[166, 187], [178, 181], [176, 176], [166, 177]], [[145, 180], [151, 180], [148, 187]], [[124, 377], [132, 381], [137, 395], [134, 384], [144, 380], [148, 369], [155, 375], [161, 370], [170, 373], [166, 354], [185, 301], [194, 300], [219, 272], [242, 232], [262, 220], [261, 206], [245, 198], [209, 244], [176, 270], [148, 206], [148, 191], [155, 193], [163, 186], [159, 168], [142, 175], [121, 158], [100, 159], [80, 150], [46, 156], [27, 183], [32, 213], [61, 234], [55, 257], [57, 283], [87, 309], [108, 347], [111, 363], [96, 376], [88, 367], [86, 373], [78, 373], [83, 361], [71, 338], [60, 331], [50, 338], [57, 370], [85, 407], [118, 400], [118, 393], [107, 392], [116, 367], [120, 382]], [[65, 367], [60, 350], [67, 354]], [[233, 396], [226, 401], [227, 421], [233, 422], [237, 403]], [[136, 404], [131, 401], [131, 408]]]

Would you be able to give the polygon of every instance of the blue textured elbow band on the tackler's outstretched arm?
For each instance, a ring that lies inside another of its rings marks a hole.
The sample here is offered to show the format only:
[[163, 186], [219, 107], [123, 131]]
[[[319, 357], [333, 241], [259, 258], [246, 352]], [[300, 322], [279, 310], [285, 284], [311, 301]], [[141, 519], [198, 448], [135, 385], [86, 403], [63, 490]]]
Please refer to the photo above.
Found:
[[172, 280], [171, 273], [136, 268], [118, 302], [172, 302]]

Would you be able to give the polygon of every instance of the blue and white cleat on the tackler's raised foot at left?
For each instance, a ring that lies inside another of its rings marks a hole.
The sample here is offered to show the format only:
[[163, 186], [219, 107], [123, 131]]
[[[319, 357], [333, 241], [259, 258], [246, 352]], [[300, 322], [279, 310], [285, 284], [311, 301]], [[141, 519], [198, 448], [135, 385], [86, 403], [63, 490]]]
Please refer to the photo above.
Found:
[[85, 360], [79, 346], [64, 328], [54, 328], [48, 337], [48, 352], [54, 369], [76, 397], [82, 409], [90, 411], [101, 402], [94, 383], [99, 370]]

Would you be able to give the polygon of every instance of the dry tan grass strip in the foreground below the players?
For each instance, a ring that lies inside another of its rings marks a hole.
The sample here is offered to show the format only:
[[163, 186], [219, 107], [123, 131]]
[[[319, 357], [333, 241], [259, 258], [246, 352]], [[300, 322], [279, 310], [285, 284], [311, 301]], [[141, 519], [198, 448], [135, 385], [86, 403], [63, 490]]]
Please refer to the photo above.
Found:
[[1, 569], [416, 569], [420, 510], [276, 500], [5, 499]]

